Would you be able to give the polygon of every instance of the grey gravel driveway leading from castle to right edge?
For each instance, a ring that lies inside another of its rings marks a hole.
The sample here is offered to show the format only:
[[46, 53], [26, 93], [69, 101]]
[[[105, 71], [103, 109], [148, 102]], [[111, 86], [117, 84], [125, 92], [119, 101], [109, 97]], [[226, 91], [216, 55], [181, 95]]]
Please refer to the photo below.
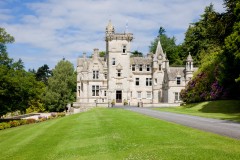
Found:
[[227, 120], [218, 120], [191, 115], [162, 112], [152, 110], [150, 108], [138, 108], [138, 107], [121, 107], [121, 108], [145, 114], [158, 119], [178, 123], [184, 126], [197, 128], [203, 131], [212, 132], [235, 139], [240, 139], [240, 123], [234, 123]]

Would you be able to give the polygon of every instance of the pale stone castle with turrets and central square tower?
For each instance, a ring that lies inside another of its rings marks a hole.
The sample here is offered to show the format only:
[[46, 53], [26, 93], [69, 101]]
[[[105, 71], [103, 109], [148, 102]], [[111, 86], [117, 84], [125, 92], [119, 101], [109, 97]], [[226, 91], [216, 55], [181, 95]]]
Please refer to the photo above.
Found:
[[[156, 53], [131, 57], [132, 33], [115, 33], [111, 21], [106, 27], [106, 56], [94, 49], [91, 58], [77, 60], [77, 98], [74, 106], [179, 104], [180, 91], [191, 80], [193, 59], [185, 67], [171, 67], [160, 41]], [[141, 103], [139, 103], [141, 102]]]

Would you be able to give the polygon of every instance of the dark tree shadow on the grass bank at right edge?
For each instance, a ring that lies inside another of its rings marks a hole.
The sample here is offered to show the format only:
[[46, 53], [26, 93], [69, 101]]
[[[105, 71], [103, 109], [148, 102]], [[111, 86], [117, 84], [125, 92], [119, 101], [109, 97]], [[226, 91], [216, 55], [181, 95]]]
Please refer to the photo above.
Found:
[[239, 100], [220, 100], [205, 102], [199, 112], [203, 113], [222, 113], [229, 117], [225, 120], [240, 122], [240, 101]]

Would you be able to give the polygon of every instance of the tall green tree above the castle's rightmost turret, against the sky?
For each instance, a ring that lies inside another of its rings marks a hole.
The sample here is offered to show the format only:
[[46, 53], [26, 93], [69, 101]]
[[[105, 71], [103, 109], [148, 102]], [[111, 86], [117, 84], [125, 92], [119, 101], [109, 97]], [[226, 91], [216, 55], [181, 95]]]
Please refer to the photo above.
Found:
[[192, 23], [185, 33], [181, 56], [186, 56], [190, 52], [195, 64], [200, 65], [202, 56], [209, 53], [207, 50], [223, 43], [225, 31], [222, 14], [215, 12], [212, 4], [207, 6], [200, 20]]

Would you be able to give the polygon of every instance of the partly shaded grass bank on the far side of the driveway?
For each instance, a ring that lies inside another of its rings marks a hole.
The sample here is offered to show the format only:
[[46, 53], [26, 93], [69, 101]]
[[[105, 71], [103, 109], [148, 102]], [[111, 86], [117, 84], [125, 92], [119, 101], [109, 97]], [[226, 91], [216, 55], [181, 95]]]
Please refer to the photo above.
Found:
[[160, 111], [240, 122], [240, 101], [221, 100], [193, 103], [180, 107], [155, 108]]

